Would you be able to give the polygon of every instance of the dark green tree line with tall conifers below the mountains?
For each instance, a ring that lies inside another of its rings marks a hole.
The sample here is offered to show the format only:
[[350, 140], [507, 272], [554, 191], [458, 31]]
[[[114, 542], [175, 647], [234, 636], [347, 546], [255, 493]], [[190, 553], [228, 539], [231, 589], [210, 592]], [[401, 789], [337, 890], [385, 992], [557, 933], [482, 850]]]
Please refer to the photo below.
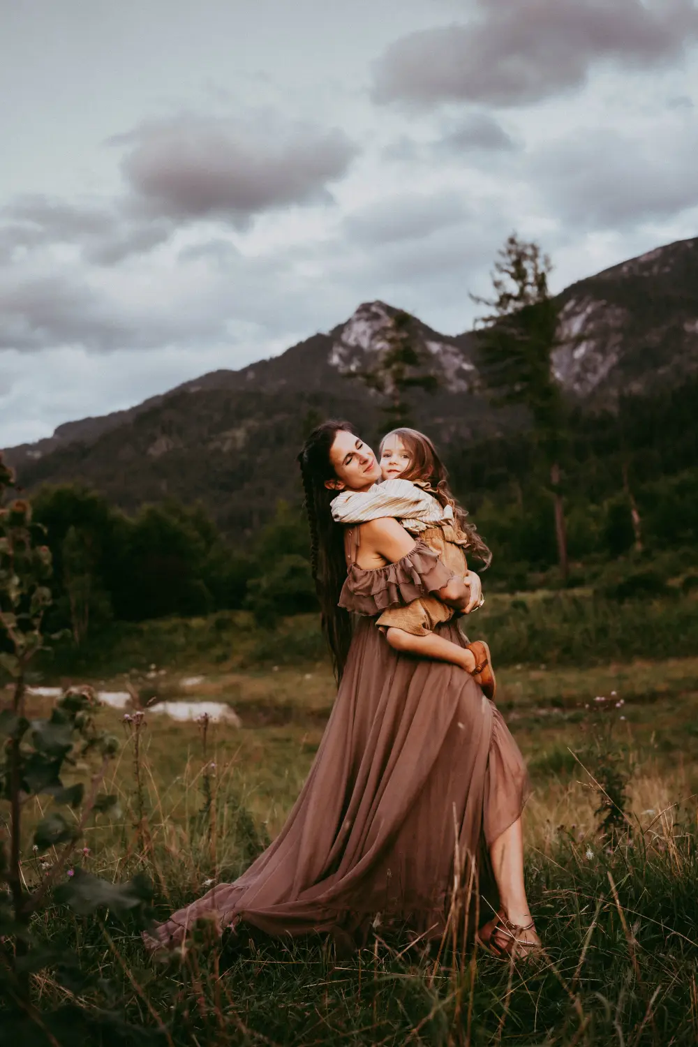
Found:
[[[489, 585], [629, 592], [621, 573], [656, 591], [696, 562], [698, 382], [622, 399], [604, 414], [566, 400], [551, 366], [559, 316], [549, 269], [537, 244], [510, 237], [492, 297], [475, 299], [487, 309], [485, 388], [496, 404], [523, 406], [530, 426], [442, 447], [453, 489], [495, 554]], [[379, 395], [387, 424], [410, 423], [412, 391], [434, 392], [438, 379], [409, 314], [393, 317], [384, 350], [354, 379]], [[280, 503], [255, 537], [235, 540], [201, 505], [165, 500], [129, 516], [80, 485], [40, 490], [33, 511], [53, 556], [49, 624], [69, 628], [76, 645], [112, 620], [248, 608], [273, 626], [316, 606], [299, 503]]]

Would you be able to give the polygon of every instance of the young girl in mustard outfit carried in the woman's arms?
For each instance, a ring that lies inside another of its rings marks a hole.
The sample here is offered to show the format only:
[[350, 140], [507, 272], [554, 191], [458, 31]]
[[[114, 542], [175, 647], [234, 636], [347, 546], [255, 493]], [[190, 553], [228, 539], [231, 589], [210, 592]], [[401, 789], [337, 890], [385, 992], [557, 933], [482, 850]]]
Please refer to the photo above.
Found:
[[[448, 473], [429, 438], [415, 429], [393, 429], [381, 441], [380, 455], [383, 483], [368, 491], [342, 491], [332, 502], [334, 520], [350, 526], [393, 516], [438, 553], [454, 574], [464, 576], [468, 571], [466, 549], [488, 565], [492, 554], [453, 498]], [[358, 540], [358, 528], [356, 535]], [[496, 681], [488, 645], [476, 641], [464, 648], [433, 631], [453, 614], [435, 597], [423, 597], [405, 607], [387, 607], [376, 624], [391, 647], [459, 665], [475, 676], [487, 697], [494, 698]]]

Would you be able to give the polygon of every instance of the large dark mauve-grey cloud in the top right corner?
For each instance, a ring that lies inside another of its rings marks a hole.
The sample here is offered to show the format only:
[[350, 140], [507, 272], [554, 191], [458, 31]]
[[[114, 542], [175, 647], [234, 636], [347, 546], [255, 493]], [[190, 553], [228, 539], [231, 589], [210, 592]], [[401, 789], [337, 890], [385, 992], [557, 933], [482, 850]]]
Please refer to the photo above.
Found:
[[582, 86], [606, 61], [647, 68], [698, 37], [693, 0], [476, 0], [469, 24], [392, 43], [375, 65], [377, 103], [522, 106]]

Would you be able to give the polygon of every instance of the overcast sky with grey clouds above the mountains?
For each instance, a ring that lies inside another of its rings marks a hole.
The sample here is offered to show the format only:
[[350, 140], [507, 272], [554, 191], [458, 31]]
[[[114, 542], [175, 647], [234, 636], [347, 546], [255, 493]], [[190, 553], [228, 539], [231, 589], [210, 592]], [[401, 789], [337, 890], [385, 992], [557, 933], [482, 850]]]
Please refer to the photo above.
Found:
[[698, 0], [0, 4], [0, 446], [698, 233]]

